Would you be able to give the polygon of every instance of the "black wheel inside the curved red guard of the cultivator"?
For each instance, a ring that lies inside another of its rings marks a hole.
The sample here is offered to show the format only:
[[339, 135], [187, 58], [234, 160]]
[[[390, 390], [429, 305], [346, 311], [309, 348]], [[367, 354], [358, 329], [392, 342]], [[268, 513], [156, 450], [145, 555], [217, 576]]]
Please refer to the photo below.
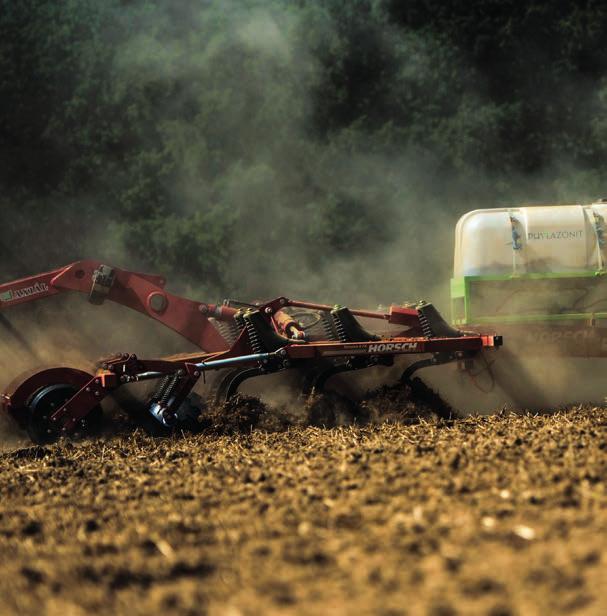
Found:
[[[27, 405], [27, 433], [39, 445], [53, 443], [61, 436], [60, 428], [51, 421], [51, 415], [78, 391], [73, 385], [59, 383], [39, 389]], [[103, 411], [96, 406], [74, 431], [76, 434], [96, 434], [103, 423]]]

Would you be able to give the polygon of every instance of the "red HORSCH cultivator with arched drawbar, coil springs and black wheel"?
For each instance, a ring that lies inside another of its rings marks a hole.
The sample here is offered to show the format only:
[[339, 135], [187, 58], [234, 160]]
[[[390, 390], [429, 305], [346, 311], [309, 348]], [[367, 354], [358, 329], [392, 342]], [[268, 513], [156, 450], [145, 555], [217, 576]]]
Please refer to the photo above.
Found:
[[[319, 391], [334, 374], [392, 365], [397, 355], [427, 355], [403, 373], [408, 381], [419, 368], [449, 361], [468, 362], [501, 337], [451, 328], [432, 306], [392, 306], [388, 312], [349, 310], [280, 297], [262, 304], [195, 302], [164, 290], [165, 280], [80, 261], [64, 268], [0, 286], [0, 312], [56, 295], [80, 291], [92, 303], [110, 300], [173, 329], [201, 353], [140, 359], [133, 354], [105, 360], [96, 374], [51, 368], [13, 383], [2, 406], [36, 442], [82, 432], [100, 418], [101, 401], [128, 383], [157, 380], [149, 415], [161, 430], [179, 426], [186, 399], [208, 371], [222, 370], [216, 396], [229, 398], [246, 379], [287, 369], [306, 375], [304, 390]], [[308, 324], [299, 314], [307, 315]], [[356, 317], [402, 327], [396, 336], [364, 329]], [[185, 411], [184, 411], [185, 409]]]

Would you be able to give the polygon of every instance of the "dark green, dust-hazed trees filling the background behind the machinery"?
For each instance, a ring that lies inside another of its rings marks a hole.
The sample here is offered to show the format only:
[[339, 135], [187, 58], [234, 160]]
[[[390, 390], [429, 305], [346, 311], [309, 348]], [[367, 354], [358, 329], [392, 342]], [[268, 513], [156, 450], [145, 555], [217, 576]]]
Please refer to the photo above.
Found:
[[600, 3], [0, 0], [4, 269], [326, 297], [374, 261], [370, 292], [415, 283], [398, 251], [423, 286], [466, 209], [600, 196], [605, 26]]

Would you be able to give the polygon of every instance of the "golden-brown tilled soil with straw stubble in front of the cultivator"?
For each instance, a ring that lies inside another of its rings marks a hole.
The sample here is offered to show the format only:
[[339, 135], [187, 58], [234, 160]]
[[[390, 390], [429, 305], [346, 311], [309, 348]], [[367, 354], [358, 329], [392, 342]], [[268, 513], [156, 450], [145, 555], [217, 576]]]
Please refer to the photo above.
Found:
[[0, 612], [607, 611], [607, 409], [393, 415], [0, 455]]

